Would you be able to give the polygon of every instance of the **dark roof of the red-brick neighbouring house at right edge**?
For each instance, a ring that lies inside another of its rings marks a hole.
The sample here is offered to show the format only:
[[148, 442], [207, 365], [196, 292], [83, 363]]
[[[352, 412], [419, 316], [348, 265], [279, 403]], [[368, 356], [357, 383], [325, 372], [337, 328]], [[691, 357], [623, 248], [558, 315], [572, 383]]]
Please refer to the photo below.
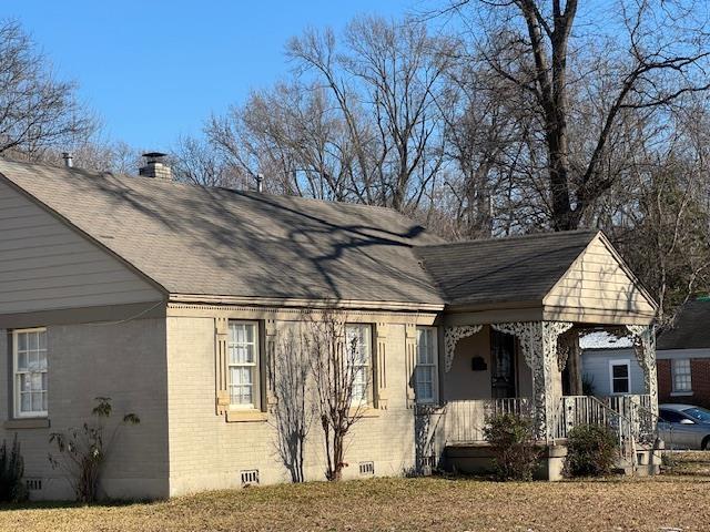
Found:
[[658, 336], [656, 349], [710, 348], [710, 300], [698, 299], [682, 306], [672, 327]]

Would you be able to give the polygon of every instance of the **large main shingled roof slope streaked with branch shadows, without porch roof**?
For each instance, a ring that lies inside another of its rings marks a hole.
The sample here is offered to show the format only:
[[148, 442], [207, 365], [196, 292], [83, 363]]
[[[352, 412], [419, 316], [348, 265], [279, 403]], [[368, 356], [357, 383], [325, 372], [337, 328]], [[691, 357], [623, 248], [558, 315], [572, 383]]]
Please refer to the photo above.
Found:
[[443, 304], [389, 208], [0, 161], [0, 174], [171, 294]]

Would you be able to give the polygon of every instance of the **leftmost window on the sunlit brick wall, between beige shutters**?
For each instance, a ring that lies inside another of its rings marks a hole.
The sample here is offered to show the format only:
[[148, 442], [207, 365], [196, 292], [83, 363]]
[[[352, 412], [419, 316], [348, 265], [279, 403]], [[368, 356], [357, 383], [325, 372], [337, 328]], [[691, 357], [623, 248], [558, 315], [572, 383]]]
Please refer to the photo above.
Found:
[[258, 358], [258, 321], [230, 321], [227, 367], [232, 408], [261, 407]]

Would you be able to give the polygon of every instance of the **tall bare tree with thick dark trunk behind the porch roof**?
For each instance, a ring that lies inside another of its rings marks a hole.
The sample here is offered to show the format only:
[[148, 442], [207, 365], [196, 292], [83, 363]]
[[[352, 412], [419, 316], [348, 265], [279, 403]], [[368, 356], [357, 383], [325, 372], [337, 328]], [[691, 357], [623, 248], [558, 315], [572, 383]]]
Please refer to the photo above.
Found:
[[[470, 8], [470, 9], [465, 9]], [[486, 63], [528, 92], [542, 125], [550, 222], [576, 228], [616, 176], [604, 166], [615, 132], [629, 112], [667, 109], [687, 93], [706, 91], [707, 4], [693, 0], [620, 0], [605, 13], [578, 10], [578, 0], [463, 0], [448, 10], [490, 29], [479, 41]], [[584, 18], [587, 16], [587, 18]], [[580, 19], [581, 20], [578, 20]], [[594, 25], [584, 34], [574, 28]], [[508, 39], [500, 40], [500, 34]], [[515, 53], [513, 53], [515, 52]], [[571, 157], [570, 119], [581, 82], [597, 76], [599, 117], [586, 139], [589, 150]]]

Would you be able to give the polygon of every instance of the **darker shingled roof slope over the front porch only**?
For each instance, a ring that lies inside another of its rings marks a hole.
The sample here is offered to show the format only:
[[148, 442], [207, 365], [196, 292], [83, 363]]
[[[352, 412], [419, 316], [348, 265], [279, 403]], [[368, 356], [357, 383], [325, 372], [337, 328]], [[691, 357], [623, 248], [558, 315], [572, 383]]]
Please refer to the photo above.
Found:
[[571, 231], [418, 248], [452, 306], [540, 303], [596, 232]]

